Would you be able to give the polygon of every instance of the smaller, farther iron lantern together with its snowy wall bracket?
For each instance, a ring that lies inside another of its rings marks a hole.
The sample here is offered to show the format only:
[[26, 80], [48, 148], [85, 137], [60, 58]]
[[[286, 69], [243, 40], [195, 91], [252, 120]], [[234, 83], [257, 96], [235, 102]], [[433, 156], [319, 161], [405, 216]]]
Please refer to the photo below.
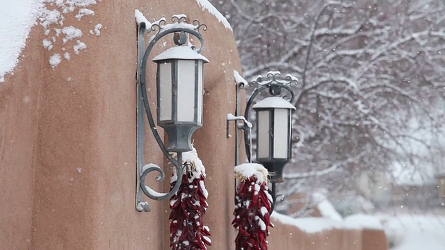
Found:
[[[270, 193], [273, 198], [272, 210], [275, 207], [275, 201], [280, 195], [276, 195], [276, 184], [284, 182], [283, 168], [286, 163], [291, 160], [291, 138], [292, 138], [292, 110], [296, 108], [291, 104], [293, 102], [292, 83], [298, 83], [298, 79], [294, 76], [287, 75], [285, 79], [280, 79], [280, 72], [268, 72], [266, 81], [262, 76], [257, 76], [248, 84], [238, 72], [234, 72], [236, 83], [238, 86], [238, 101], [236, 104], [236, 115], [227, 115], [227, 138], [229, 138], [229, 121], [241, 120], [241, 124], [237, 124], [244, 134], [245, 152], [250, 163], [257, 162], [264, 165], [270, 174]], [[256, 88], [250, 95], [245, 107], [244, 116], [241, 114], [241, 90], [245, 85], [255, 85]], [[266, 97], [255, 102], [261, 92], [268, 90], [271, 97]], [[285, 92], [282, 92], [285, 90]], [[286, 95], [287, 94], [287, 95]], [[250, 118], [250, 110], [256, 111], [256, 120], [254, 125], [257, 129], [256, 136], [256, 160], [252, 160], [252, 135], [250, 128], [252, 124], [248, 122]], [[241, 143], [238, 131], [236, 131], [236, 143]], [[236, 159], [238, 165], [239, 149], [236, 150]]]

